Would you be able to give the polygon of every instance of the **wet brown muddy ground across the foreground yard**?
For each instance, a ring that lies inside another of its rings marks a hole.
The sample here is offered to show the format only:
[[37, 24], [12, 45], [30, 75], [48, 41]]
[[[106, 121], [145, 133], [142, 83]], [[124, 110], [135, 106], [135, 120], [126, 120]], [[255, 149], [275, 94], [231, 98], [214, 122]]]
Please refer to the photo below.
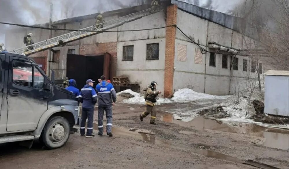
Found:
[[[31, 149], [14, 143], [3, 144], [0, 145], [0, 166], [1, 169], [256, 168], [242, 164], [244, 160], [252, 159], [278, 168], [289, 168], [287, 150], [265, 146], [263, 133], [270, 132], [269, 129], [246, 124], [229, 126], [203, 118], [187, 123], [167, 113], [179, 108], [194, 110], [205, 106], [208, 105], [199, 102], [159, 105], [158, 125], [151, 125], [149, 118], [143, 122], [139, 120], [143, 105], [118, 103], [113, 107], [113, 137], [85, 138], [76, 133], [70, 136], [64, 147], [55, 150], [45, 150], [37, 142]], [[128, 130], [130, 128], [138, 130], [132, 132]], [[97, 124], [95, 129], [97, 133]], [[271, 142], [274, 143], [274, 138]], [[284, 142], [288, 143], [288, 140]]]

